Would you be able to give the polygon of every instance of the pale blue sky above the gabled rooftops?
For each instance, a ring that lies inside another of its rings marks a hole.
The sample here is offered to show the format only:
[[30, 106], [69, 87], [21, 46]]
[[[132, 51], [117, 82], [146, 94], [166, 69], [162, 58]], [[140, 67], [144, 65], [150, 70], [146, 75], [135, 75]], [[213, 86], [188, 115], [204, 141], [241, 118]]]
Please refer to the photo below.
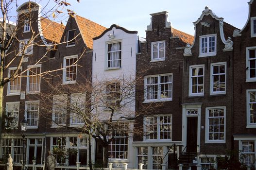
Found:
[[[27, 0], [17, 0], [21, 5]], [[43, 7], [48, 0], [35, 0]], [[145, 30], [150, 24], [152, 13], [167, 11], [169, 21], [173, 28], [194, 35], [194, 25], [202, 14], [205, 6], [208, 6], [224, 21], [242, 29], [248, 17], [249, 0], [68, 0], [77, 15], [90, 19], [109, 28], [117, 24], [131, 31], [138, 31], [139, 36], [145, 37]], [[51, 9], [54, 0], [44, 11]], [[15, 15], [15, 8], [10, 15]], [[51, 14], [49, 14], [51, 15]], [[67, 20], [67, 19], [64, 19]]]

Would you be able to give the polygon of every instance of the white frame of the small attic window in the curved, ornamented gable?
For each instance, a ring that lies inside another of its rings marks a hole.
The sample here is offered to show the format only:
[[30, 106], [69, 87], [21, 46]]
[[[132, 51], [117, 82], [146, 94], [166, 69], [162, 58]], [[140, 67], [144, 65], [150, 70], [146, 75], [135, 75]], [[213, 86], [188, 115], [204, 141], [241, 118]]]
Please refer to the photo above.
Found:
[[[215, 42], [214, 42], [214, 51], [209, 52], [209, 37], [215, 37]], [[202, 53], [202, 39], [207, 38], [207, 52]], [[215, 56], [217, 54], [217, 34], [207, 34], [207, 35], [201, 35], [199, 36], [199, 57], [207, 57], [207, 56]]]

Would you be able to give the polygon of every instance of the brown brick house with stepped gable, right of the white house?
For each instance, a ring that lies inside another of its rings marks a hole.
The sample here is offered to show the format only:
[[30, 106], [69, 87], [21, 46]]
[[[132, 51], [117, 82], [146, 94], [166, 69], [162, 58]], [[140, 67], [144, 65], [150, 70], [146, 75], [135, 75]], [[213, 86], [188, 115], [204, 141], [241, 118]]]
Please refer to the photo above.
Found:
[[[174, 29], [168, 12], [150, 14], [146, 39], [137, 54], [134, 167], [174, 168], [182, 145], [183, 52], [193, 36]], [[176, 146], [175, 146], [176, 145]], [[176, 150], [176, 152], [175, 152]]]

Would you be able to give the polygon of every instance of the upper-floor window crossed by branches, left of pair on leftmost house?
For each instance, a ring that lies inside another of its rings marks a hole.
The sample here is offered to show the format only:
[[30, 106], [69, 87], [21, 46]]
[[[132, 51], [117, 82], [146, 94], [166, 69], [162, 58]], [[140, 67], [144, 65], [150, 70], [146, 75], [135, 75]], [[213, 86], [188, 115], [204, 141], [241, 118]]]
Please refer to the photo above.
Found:
[[[9, 68], [9, 77], [13, 76], [17, 67]], [[20, 74], [21, 69], [18, 70], [17, 75]], [[21, 77], [18, 76], [13, 81], [8, 82], [8, 91], [7, 95], [19, 95], [20, 94], [20, 85], [21, 85]]]

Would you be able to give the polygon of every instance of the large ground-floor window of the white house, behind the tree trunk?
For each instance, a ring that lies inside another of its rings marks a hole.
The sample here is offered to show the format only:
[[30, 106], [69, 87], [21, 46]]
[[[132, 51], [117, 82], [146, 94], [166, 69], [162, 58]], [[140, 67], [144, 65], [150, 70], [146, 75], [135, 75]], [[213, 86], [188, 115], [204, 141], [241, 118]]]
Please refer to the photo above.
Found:
[[108, 145], [109, 158], [127, 159], [129, 123], [119, 123], [114, 127], [114, 130], [108, 136], [108, 139], [112, 140]]

